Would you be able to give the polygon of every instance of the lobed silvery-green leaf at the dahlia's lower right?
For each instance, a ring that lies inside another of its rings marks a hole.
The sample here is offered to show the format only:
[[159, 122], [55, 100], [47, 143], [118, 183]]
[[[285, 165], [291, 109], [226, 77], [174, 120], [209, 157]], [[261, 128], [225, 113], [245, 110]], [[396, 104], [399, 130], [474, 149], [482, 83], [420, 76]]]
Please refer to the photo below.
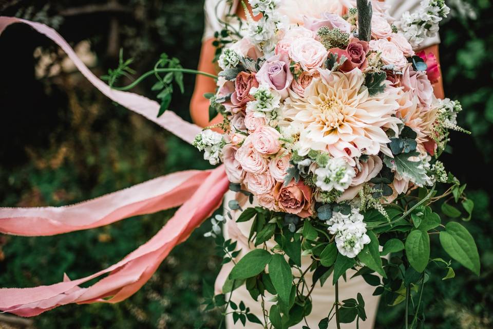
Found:
[[426, 185], [425, 177], [427, 176], [426, 169], [422, 166], [423, 163], [421, 161], [409, 160], [410, 157], [417, 157], [419, 155], [419, 152], [416, 151], [395, 155], [393, 159], [386, 155], [384, 162], [387, 167], [395, 170], [401, 176], [410, 178], [420, 185]]

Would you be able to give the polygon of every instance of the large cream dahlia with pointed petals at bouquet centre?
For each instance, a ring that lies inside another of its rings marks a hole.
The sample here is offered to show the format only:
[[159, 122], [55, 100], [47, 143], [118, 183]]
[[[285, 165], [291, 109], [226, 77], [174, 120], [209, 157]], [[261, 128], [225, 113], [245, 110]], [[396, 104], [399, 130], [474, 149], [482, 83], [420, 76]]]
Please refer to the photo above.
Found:
[[388, 86], [385, 93], [369, 96], [363, 83], [357, 68], [346, 74], [320, 70], [320, 78], [307, 87], [304, 98], [290, 91], [283, 115], [305, 127], [306, 138], [298, 143], [308, 144], [299, 145], [299, 150], [328, 151], [333, 157], [345, 157], [352, 166], [353, 158], [362, 154], [382, 151], [392, 156], [386, 131], [399, 131], [401, 120], [394, 116], [399, 89]]

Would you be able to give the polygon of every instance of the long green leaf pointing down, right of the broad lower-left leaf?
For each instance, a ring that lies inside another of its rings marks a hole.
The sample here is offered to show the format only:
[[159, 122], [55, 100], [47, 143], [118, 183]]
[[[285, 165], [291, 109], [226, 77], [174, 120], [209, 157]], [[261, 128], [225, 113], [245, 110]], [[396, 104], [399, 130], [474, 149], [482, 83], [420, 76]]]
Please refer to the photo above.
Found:
[[281, 254], [274, 254], [269, 263], [269, 277], [271, 278], [274, 288], [276, 288], [279, 299], [288, 304], [291, 286], [293, 285], [293, 273], [291, 266]]

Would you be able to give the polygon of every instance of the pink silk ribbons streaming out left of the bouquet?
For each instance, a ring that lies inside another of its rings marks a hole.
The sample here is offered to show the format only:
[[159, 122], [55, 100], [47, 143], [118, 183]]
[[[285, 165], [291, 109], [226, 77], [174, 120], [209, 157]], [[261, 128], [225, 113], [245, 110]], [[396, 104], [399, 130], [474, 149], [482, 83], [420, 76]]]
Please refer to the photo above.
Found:
[[[104, 95], [124, 107], [156, 122], [191, 143], [200, 128], [171, 111], [157, 118], [159, 104], [143, 96], [112, 90], [77, 57], [52, 28], [15, 17], [0, 16], [0, 33], [10, 24], [24, 23], [58, 44], [82, 74]], [[120, 262], [88, 277], [49, 286], [0, 289], [0, 310], [19, 316], [35, 316], [69, 303], [120, 302], [142, 287], [169, 252], [222, 203], [229, 181], [224, 167], [208, 171], [183, 171], [149, 180], [118, 192], [64, 207], [0, 208], [0, 232], [41, 236], [90, 229], [135, 215], [154, 213], [182, 205], [175, 215], [147, 243]], [[104, 276], [104, 277], [103, 277]], [[100, 280], [83, 288], [81, 284]]]

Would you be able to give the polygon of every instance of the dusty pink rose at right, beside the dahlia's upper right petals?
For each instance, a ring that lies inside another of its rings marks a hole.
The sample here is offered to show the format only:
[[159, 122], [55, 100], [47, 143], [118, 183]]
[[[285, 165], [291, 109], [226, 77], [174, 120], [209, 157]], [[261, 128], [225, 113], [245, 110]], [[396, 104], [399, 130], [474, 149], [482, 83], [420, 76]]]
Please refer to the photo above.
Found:
[[428, 80], [425, 72], [412, 70], [411, 64], [404, 68], [401, 85], [406, 92], [418, 96], [420, 103], [424, 107], [429, 107], [433, 101], [433, 87]]

